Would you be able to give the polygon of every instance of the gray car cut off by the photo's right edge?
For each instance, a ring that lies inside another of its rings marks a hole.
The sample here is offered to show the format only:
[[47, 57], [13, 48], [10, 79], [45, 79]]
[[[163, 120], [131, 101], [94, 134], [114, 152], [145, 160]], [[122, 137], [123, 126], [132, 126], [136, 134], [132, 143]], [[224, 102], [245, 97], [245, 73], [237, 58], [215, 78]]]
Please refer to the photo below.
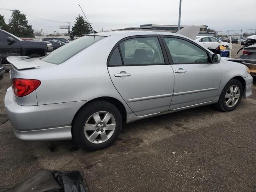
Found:
[[242, 55], [240, 55], [242, 64], [246, 65], [253, 76], [256, 76], [256, 43], [244, 47]]

